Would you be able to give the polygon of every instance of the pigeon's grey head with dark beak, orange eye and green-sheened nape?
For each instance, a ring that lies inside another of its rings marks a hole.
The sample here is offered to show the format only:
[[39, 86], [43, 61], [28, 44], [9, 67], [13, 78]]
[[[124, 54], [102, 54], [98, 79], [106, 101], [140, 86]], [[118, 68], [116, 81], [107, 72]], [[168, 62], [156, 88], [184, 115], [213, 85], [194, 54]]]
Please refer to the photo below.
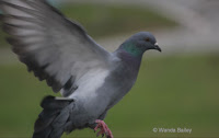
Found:
[[149, 49], [161, 51], [155, 37], [149, 32], [140, 32], [132, 35], [122, 44], [120, 48], [132, 56], [142, 56], [142, 54]]

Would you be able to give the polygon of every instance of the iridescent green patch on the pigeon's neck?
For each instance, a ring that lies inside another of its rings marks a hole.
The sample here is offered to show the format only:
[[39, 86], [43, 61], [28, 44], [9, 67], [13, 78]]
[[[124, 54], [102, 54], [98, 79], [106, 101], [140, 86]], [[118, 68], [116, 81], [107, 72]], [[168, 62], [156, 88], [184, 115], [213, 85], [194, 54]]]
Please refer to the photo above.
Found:
[[130, 55], [135, 56], [135, 57], [139, 57], [142, 56], [142, 49], [138, 48], [135, 44], [132, 43], [124, 43], [122, 45], [122, 48], [124, 50], [126, 50], [127, 53], [129, 53]]

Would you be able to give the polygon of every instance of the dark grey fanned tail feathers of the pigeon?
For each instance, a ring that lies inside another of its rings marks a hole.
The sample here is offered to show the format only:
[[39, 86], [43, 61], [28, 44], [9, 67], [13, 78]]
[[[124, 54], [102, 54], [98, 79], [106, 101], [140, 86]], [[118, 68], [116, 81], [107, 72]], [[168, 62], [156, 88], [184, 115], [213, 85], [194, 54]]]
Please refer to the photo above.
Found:
[[73, 100], [46, 96], [41, 106], [43, 111], [35, 122], [33, 138], [60, 138], [74, 107]]

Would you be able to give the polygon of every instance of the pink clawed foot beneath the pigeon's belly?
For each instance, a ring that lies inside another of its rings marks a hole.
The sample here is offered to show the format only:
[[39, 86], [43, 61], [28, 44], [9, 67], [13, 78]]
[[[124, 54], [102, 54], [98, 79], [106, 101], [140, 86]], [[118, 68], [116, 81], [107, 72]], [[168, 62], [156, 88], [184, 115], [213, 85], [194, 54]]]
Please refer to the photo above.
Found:
[[99, 128], [101, 129], [97, 134], [96, 137], [99, 137], [100, 135], [102, 135], [102, 137], [104, 137], [104, 135], [106, 136], [106, 138], [113, 138], [113, 134], [111, 131], [111, 129], [107, 127], [107, 125], [101, 120], [101, 119], [96, 119], [95, 123], [97, 124], [96, 127], [94, 128], [94, 131], [96, 131]]

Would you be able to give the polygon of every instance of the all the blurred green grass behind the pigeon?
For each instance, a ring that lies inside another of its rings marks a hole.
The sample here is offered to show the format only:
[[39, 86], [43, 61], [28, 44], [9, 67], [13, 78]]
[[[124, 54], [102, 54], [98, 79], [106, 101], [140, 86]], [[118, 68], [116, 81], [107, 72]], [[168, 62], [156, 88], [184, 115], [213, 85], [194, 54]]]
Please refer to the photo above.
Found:
[[[160, 14], [138, 7], [78, 3], [61, 5], [60, 9], [67, 16], [79, 21], [94, 38], [177, 26]], [[3, 33], [0, 32], [0, 35], [1, 49], [8, 49]], [[7, 54], [1, 49], [0, 58], [4, 60]], [[39, 102], [53, 91], [18, 60], [5, 62], [0, 62], [0, 138], [31, 137], [34, 122], [42, 111]], [[115, 138], [219, 137], [218, 101], [218, 51], [149, 54], [142, 60], [135, 87], [108, 112], [105, 122]], [[153, 128], [177, 127], [192, 128], [193, 131], [152, 131]], [[94, 138], [95, 135], [91, 129], [83, 129], [64, 137]]]

